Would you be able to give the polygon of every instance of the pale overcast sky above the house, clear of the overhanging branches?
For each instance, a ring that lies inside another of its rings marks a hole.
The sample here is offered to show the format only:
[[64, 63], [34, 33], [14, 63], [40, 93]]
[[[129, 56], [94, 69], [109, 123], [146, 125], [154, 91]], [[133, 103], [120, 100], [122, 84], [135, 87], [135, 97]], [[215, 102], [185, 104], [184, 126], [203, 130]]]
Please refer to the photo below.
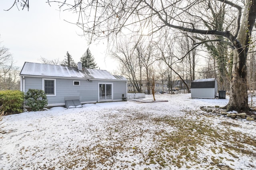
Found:
[[0, 42], [10, 49], [15, 66], [22, 67], [25, 61], [40, 63], [40, 57], [63, 60], [67, 51], [78, 62], [89, 47], [100, 69], [117, 69], [117, 63], [113, 64], [113, 59], [106, 55], [106, 42], [88, 46], [86, 37], [79, 36], [82, 30], [64, 21], [76, 22], [71, 12], [60, 12], [56, 4], [50, 7], [44, 0], [29, 1], [29, 11], [16, 7], [4, 11], [13, 2], [0, 1]]

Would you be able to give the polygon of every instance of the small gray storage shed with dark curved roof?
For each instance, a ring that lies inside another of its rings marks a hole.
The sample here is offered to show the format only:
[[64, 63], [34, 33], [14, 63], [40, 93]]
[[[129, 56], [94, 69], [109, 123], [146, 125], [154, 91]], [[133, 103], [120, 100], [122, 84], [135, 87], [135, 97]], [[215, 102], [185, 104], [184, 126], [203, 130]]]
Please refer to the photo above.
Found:
[[217, 96], [216, 79], [198, 79], [191, 82], [191, 98], [215, 99]]

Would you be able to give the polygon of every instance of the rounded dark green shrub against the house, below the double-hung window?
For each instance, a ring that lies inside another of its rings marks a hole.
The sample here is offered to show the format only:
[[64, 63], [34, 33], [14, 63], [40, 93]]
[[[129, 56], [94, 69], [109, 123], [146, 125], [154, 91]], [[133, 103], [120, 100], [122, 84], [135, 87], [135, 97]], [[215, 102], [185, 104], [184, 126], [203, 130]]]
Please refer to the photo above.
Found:
[[26, 105], [32, 109], [32, 111], [40, 111], [47, 106], [48, 100], [43, 90], [28, 89], [25, 95]]

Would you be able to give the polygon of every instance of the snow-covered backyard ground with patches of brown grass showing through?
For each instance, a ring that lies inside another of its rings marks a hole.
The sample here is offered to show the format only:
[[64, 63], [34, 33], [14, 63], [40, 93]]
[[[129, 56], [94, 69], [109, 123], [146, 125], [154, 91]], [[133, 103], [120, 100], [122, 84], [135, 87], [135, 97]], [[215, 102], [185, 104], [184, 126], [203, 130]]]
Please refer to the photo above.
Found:
[[200, 109], [228, 99], [156, 99], [8, 115], [0, 169], [256, 169], [256, 122]]

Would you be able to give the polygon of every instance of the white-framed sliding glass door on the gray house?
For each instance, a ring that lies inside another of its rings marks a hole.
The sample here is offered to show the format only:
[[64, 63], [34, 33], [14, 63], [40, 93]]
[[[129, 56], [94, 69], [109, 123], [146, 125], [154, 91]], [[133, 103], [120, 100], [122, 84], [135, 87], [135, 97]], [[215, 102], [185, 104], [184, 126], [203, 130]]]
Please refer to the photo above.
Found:
[[99, 100], [109, 100], [113, 97], [113, 83], [99, 83]]

